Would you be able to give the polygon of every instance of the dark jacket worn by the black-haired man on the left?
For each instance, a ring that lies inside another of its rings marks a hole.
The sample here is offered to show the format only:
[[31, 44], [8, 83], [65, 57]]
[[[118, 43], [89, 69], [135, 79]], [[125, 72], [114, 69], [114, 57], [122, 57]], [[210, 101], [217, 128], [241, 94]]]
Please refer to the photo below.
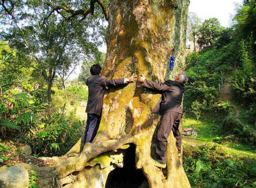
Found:
[[107, 80], [103, 75], [93, 75], [86, 80], [88, 85], [88, 102], [85, 112], [88, 114], [102, 114], [103, 97], [108, 86], [124, 83], [125, 79]]

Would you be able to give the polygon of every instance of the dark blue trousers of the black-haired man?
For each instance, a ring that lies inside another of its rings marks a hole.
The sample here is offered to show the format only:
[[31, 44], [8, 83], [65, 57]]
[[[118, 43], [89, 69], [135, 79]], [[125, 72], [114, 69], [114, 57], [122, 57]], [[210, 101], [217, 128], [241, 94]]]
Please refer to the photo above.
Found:
[[85, 134], [84, 134], [84, 144], [87, 142], [93, 141], [99, 129], [100, 120], [101, 120], [101, 116], [97, 114], [87, 114], [87, 122], [85, 127]]

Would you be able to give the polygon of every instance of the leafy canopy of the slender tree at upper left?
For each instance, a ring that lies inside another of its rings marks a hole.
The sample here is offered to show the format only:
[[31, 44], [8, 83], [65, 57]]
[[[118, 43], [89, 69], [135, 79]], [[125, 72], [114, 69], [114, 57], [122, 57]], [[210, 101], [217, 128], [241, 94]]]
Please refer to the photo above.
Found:
[[[1, 39], [9, 41], [9, 45], [17, 49], [23, 66], [33, 68], [37, 79], [47, 83], [47, 100], [50, 103], [52, 81], [56, 74], [61, 77], [64, 86], [70, 68], [84, 60], [101, 59], [97, 47], [104, 43], [105, 26], [99, 7], [94, 7], [96, 2], [97, 6], [103, 3], [90, 1], [90, 9], [86, 13], [56, 4], [79, 9], [88, 5], [89, 1], [80, 6], [78, 2], [66, 1], [1, 3]], [[104, 6], [102, 9], [105, 9]], [[3, 17], [4, 14], [6, 17]], [[87, 17], [88, 14], [90, 16]]]

